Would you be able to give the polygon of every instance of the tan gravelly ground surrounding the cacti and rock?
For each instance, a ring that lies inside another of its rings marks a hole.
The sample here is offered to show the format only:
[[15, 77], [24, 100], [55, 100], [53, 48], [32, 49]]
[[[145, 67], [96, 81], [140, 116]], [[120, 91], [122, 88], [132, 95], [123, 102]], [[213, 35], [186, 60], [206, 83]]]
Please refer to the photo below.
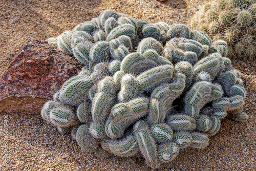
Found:
[[[72, 30], [106, 9], [143, 18], [152, 23], [186, 24], [206, 1], [0, 1], [0, 75], [29, 37], [47, 39]], [[246, 122], [222, 120], [220, 131], [206, 149], [184, 149], [158, 170], [255, 170], [256, 62], [233, 61], [241, 72], [248, 95]], [[8, 120], [5, 130], [5, 120]], [[84, 153], [71, 136], [61, 135], [40, 115], [0, 114], [0, 170], [151, 170], [143, 159], [115, 156], [96, 158]], [[8, 131], [8, 134], [6, 133]], [[7, 148], [6, 148], [7, 147]], [[8, 153], [6, 152], [6, 149]], [[4, 164], [7, 154], [9, 162]]]

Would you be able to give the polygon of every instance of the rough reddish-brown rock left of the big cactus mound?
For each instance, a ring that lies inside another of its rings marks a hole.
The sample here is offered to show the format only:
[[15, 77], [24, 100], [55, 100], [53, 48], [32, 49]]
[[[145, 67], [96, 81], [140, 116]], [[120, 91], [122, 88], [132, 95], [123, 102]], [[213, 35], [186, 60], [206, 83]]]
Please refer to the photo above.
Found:
[[47, 41], [29, 38], [0, 78], [0, 113], [40, 114], [41, 106], [80, 69]]

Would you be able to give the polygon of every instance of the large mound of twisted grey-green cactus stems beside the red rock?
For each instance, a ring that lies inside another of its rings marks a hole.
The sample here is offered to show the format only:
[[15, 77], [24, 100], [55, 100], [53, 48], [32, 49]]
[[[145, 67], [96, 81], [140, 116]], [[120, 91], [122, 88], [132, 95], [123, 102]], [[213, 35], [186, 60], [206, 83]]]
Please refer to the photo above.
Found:
[[96, 156], [141, 153], [158, 168], [183, 148], [205, 148], [227, 114], [248, 119], [227, 44], [205, 32], [107, 10], [53, 39], [84, 67], [41, 116]]

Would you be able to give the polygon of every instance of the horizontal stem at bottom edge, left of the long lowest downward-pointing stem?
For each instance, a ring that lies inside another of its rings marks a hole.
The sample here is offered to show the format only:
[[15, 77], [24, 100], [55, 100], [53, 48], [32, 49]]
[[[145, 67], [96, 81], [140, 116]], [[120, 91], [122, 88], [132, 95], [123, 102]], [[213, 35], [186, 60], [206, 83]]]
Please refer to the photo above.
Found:
[[139, 152], [138, 141], [134, 135], [130, 135], [121, 140], [102, 142], [102, 147], [120, 157], [132, 157]]

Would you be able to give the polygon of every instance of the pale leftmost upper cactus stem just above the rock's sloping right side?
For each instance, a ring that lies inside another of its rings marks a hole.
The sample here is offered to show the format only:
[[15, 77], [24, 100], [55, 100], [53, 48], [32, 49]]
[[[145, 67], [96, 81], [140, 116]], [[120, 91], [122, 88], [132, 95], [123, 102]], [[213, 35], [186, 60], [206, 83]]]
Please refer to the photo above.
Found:
[[61, 35], [58, 36], [57, 44], [58, 49], [60, 49], [63, 53], [67, 55], [73, 55], [72, 52], [72, 32], [71, 31], [65, 31]]

